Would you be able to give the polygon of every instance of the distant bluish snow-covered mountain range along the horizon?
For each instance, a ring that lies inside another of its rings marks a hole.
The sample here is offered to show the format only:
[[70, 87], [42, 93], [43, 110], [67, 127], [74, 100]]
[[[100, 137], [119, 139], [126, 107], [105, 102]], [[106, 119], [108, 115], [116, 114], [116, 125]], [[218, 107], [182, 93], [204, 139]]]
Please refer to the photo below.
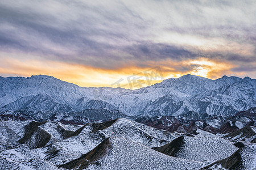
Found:
[[0, 111], [36, 120], [109, 120], [188, 112], [230, 116], [255, 105], [256, 79], [249, 77], [211, 80], [184, 75], [138, 90], [79, 87], [46, 75], [0, 77]]

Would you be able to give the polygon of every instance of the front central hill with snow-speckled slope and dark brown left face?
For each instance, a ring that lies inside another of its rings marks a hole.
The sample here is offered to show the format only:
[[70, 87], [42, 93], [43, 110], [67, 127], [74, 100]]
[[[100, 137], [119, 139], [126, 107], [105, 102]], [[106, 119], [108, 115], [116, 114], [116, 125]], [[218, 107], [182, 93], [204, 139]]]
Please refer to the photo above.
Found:
[[108, 138], [88, 154], [60, 165], [68, 169], [193, 169], [202, 166], [203, 163], [167, 156], [117, 137]]

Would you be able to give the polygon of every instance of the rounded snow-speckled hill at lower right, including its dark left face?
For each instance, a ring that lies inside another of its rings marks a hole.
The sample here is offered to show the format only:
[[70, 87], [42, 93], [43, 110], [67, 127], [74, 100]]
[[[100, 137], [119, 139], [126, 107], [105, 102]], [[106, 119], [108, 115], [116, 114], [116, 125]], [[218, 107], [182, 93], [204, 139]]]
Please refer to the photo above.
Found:
[[[179, 137], [162, 147], [154, 148], [177, 158], [213, 163], [238, 150], [231, 142], [214, 136]], [[225, 150], [225, 152], [223, 152]]]

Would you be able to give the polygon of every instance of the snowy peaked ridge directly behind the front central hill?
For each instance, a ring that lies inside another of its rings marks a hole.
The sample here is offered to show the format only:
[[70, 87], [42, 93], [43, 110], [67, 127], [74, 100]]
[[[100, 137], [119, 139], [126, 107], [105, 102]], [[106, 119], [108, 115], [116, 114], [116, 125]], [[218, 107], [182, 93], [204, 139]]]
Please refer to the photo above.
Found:
[[166, 130], [151, 128], [126, 118], [119, 118], [109, 128], [94, 133], [91, 133], [92, 130], [92, 124], [88, 124], [79, 135], [63, 139], [38, 150], [41, 153], [52, 149], [60, 150], [57, 156], [50, 158], [49, 161], [54, 164], [62, 164], [86, 154], [108, 137], [129, 138], [148, 147], [159, 147], [175, 139], [175, 136]]

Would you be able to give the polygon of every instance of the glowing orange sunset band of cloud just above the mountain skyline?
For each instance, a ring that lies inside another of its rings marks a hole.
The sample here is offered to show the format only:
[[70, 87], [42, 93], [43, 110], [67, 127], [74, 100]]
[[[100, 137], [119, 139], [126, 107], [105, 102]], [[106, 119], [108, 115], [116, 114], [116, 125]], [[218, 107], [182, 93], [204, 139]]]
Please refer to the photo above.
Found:
[[[1, 57], [0, 57], [1, 58]], [[147, 67], [126, 66], [110, 70], [92, 66], [49, 61], [42, 59], [1, 58], [0, 74], [8, 76], [51, 75], [55, 78], [82, 87], [123, 87], [141, 88], [162, 82], [167, 78], [178, 78], [185, 74], [206, 78], [219, 78], [234, 65], [207, 58], [188, 59], [182, 62], [171, 60], [146, 63]], [[189, 68], [182, 70], [182, 68]]]

